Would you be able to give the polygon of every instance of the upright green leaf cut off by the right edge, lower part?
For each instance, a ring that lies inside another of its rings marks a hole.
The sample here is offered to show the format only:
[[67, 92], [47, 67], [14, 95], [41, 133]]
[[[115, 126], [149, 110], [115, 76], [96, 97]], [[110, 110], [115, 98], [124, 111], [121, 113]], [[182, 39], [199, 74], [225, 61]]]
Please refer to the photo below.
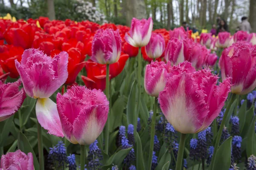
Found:
[[256, 155], [255, 119], [256, 119], [256, 116], [254, 116], [253, 121], [251, 122], [248, 135], [247, 135], [246, 153], [248, 157], [251, 155]]

